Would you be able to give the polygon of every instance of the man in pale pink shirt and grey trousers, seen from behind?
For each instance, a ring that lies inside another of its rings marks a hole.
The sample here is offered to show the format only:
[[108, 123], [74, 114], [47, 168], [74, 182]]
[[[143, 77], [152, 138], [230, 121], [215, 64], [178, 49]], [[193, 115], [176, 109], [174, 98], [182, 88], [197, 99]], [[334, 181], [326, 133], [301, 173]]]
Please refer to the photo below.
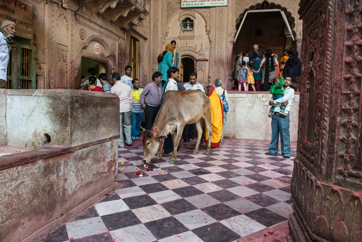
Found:
[[[125, 147], [123, 139], [123, 129], [126, 135], [126, 144], [132, 145], [131, 139], [131, 108], [133, 104], [132, 91], [129, 85], [121, 82], [121, 76], [118, 72], [112, 73], [114, 85], [111, 87], [110, 93], [115, 93], [119, 97], [119, 139], [118, 147]], [[122, 129], [123, 128], [123, 129]]]

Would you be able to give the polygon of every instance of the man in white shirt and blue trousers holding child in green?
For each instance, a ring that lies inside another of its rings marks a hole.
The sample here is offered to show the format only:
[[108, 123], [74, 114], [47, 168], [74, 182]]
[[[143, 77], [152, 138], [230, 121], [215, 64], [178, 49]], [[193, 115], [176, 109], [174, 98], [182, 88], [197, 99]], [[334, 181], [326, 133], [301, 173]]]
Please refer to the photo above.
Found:
[[274, 112], [271, 117], [271, 142], [269, 145], [269, 152], [265, 153], [267, 155], [277, 155], [278, 153], [278, 142], [279, 142], [279, 134], [280, 134], [280, 143], [281, 143], [281, 151], [282, 155], [285, 159], [289, 159], [290, 152], [290, 134], [289, 134], [289, 114], [287, 116], [279, 115], [280, 106], [286, 106], [286, 110], [290, 111], [292, 100], [294, 98], [294, 89], [290, 88], [290, 84], [292, 83], [291, 76], [285, 76], [284, 78], [284, 96], [277, 100], [270, 100], [269, 105], [275, 106]]

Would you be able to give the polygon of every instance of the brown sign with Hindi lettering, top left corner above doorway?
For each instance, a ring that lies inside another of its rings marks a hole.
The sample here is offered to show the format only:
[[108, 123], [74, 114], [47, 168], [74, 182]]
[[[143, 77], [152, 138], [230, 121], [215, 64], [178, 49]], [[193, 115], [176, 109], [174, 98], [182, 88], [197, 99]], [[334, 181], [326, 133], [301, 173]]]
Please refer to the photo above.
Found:
[[16, 24], [16, 36], [33, 39], [33, 4], [24, 0], [0, 0], [0, 22]]

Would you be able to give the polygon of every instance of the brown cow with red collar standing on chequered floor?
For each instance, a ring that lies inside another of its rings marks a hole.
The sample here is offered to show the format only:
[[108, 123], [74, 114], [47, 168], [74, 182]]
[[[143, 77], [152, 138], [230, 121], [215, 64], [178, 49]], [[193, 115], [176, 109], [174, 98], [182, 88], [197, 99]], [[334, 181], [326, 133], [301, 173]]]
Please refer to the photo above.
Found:
[[[197, 154], [202, 136], [202, 118], [206, 123], [206, 130], [211, 137], [210, 100], [201, 90], [167, 91], [163, 95], [161, 108], [156, 116], [153, 126], [156, 129], [145, 130], [143, 138], [143, 162], [149, 163], [153, 155], [161, 147], [161, 139], [171, 133], [173, 141], [173, 154], [170, 164], [176, 162], [177, 147], [182, 136], [185, 124], [196, 124], [197, 143], [193, 155]], [[176, 130], [178, 130], [176, 134]], [[158, 134], [157, 134], [158, 133]], [[207, 146], [206, 154], [210, 154], [211, 143]], [[157, 159], [162, 153], [157, 153]]]

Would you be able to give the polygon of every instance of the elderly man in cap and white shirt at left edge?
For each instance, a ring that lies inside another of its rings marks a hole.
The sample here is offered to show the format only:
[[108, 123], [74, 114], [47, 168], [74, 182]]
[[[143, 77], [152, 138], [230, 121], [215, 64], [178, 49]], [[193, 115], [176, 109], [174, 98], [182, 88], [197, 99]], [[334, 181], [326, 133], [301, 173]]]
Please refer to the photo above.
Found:
[[0, 88], [8, 88], [7, 72], [9, 62], [9, 51], [14, 43], [12, 38], [15, 37], [16, 25], [14, 22], [4, 20], [1, 22], [0, 37]]

